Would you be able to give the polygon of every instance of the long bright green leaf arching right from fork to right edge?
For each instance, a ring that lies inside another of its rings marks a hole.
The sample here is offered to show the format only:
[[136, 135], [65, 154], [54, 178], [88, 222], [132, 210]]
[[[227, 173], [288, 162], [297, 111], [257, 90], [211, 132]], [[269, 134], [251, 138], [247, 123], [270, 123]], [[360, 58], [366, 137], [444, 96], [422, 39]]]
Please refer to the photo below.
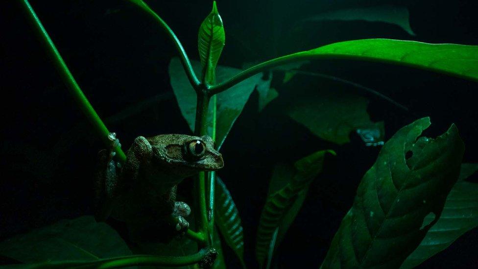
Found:
[[230, 87], [251, 75], [277, 66], [313, 59], [376, 61], [478, 81], [478, 46], [429, 44], [393, 39], [362, 39], [338, 42], [260, 63], [212, 87], [212, 90]]

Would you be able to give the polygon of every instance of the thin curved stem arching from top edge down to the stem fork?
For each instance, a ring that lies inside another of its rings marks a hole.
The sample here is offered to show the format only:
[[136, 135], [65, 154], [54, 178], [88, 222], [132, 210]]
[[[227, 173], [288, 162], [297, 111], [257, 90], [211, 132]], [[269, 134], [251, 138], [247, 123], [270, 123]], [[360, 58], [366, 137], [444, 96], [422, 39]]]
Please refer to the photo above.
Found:
[[156, 14], [143, 0], [129, 0], [130, 2], [136, 4], [139, 6], [141, 9], [146, 11], [149, 15], [151, 15], [160, 25], [163, 30], [165, 30], [167, 36], [169, 39], [174, 43], [174, 46], [179, 52], [179, 58], [181, 59], [181, 63], [183, 64], [183, 68], [186, 71], [186, 75], [188, 76], [189, 82], [191, 83], [192, 87], [194, 90], [198, 91], [200, 82], [199, 79], [197, 79], [196, 74], [194, 73], [194, 70], [192, 69], [191, 66], [191, 61], [189, 60], [188, 54], [186, 54], [186, 50], [184, 50], [183, 45], [181, 45], [181, 42], [179, 41], [178, 37], [174, 32], [169, 28], [167, 23], [161, 19], [161, 17]]

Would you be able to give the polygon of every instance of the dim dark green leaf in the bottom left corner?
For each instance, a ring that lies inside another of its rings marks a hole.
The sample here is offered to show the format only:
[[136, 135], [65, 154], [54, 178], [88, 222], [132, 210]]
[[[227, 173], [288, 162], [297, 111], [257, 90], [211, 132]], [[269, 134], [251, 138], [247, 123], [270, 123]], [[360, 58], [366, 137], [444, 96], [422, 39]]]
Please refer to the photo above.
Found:
[[92, 216], [61, 220], [0, 243], [0, 255], [23, 263], [95, 261], [131, 254], [113, 228]]

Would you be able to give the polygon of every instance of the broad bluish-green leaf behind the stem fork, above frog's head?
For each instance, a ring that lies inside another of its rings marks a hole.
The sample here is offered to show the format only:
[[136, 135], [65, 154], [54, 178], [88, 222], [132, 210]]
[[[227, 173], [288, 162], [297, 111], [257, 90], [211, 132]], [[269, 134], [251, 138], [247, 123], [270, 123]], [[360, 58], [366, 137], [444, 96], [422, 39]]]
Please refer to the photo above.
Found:
[[[201, 70], [201, 64], [198, 61], [191, 62], [194, 71]], [[217, 66], [216, 79], [223, 81], [237, 73], [240, 70], [231, 67]], [[196, 117], [196, 93], [189, 83], [183, 66], [178, 58], [173, 58], [169, 64], [169, 77], [171, 86], [178, 101], [179, 108], [183, 117], [188, 122], [191, 130], [194, 130], [194, 120]], [[270, 79], [270, 77], [269, 77]], [[239, 117], [245, 103], [249, 99], [252, 91], [257, 85], [270, 83], [269, 80], [263, 80], [262, 74], [256, 74], [234, 87], [217, 94], [217, 119], [216, 119], [216, 147], [221, 147], [232, 125]], [[212, 111], [212, 104], [209, 107]], [[212, 113], [209, 113], [210, 115]], [[212, 132], [211, 120], [208, 120], [208, 133]]]

